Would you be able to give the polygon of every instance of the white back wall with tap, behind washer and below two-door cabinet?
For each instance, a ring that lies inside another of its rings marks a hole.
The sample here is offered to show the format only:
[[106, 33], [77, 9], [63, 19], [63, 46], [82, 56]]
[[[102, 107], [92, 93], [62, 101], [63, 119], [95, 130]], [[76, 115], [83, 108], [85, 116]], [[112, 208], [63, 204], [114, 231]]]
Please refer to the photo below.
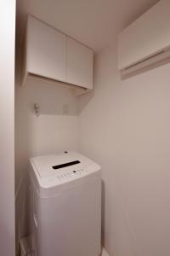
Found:
[[[33, 112], [34, 103], [40, 115]], [[68, 107], [68, 110], [66, 109]], [[29, 233], [28, 160], [78, 147], [77, 100], [71, 90], [30, 79], [15, 92], [16, 242]], [[18, 247], [17, 247], [18, 249]]]

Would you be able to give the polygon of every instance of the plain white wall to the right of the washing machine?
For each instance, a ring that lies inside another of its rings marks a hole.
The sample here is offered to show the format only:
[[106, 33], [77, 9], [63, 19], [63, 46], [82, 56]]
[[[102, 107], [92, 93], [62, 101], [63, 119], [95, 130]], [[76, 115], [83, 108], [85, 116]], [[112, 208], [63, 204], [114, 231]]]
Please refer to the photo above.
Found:
[[95, 61], [94, 96], [80, 98], [81, 150], [102, 166], [111, 256], [170, 253], [169, 73], [167, 64], [122, 81], [108, 47]]

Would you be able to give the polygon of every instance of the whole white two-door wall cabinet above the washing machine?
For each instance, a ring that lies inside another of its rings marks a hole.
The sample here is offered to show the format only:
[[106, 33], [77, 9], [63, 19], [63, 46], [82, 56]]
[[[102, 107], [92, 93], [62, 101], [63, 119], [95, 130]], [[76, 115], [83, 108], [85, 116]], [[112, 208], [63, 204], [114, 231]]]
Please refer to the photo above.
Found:
[[77, 85], [83, 89], [78, 94], [93, 89], [92, 49], [32, 16], [27, 20], [25, 48], [23, 84], [32, 76]]

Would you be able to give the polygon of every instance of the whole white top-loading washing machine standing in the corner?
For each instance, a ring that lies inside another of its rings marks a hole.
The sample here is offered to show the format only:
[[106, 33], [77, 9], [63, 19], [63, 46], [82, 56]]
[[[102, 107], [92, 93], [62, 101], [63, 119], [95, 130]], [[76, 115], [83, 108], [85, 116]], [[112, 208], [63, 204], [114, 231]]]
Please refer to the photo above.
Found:
[[99, 256], [100, 166], [77, 152], [30, 161], [35, 256]]

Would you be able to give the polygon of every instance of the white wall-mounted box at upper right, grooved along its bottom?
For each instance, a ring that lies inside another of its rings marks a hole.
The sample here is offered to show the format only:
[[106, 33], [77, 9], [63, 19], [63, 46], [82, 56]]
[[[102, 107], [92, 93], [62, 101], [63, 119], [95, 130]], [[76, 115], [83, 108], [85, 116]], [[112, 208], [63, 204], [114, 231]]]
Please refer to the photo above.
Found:
[[170, 1], [161, 0], [118, 37], [122, 79], [170, 61]]

